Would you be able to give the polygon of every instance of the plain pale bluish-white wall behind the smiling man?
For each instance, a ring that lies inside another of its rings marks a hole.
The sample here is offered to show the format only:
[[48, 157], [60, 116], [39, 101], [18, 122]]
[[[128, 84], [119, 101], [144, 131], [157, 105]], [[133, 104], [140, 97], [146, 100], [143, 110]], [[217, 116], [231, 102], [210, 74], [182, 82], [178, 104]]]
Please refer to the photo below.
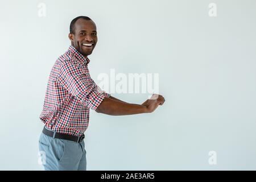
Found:
[[[38, 16], [38, 4], [46, 17]], [[217, 5], [210, 17], [209, 3]], [[98, 43], [90, 74], [159, 73], [152, 114], [90, 113], [88, 170], [256, 169], [256, 1], [5, 1], [1, 3], [0, 169], [40, 170], [47, 79], [69, 23], [88, 15]], [[141, 104], [146, 94], [113, 94]], [[209, 151], [217, 164], [208, 163]]]

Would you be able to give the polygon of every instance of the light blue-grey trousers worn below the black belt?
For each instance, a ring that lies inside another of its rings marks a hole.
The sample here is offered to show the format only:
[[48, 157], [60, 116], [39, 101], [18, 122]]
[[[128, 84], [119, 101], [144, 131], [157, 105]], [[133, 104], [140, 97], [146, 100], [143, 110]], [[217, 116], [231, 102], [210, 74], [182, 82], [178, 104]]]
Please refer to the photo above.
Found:
[[39, 152], [46, 171], [86, 171], [84, 140], [80, 143], [41, 134]]

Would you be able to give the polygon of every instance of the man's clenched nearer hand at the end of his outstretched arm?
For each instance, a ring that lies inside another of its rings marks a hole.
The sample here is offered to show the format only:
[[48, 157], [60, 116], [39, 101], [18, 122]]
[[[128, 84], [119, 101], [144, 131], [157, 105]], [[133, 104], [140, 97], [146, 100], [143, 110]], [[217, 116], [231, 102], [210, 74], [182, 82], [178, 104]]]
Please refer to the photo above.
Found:
[[146, 100], [142, 105], [146, 106], [147, 113], [152, 113], [159, 105], [164, 104], [164, 97], [158, 94], [152, 94], [149, 100]]

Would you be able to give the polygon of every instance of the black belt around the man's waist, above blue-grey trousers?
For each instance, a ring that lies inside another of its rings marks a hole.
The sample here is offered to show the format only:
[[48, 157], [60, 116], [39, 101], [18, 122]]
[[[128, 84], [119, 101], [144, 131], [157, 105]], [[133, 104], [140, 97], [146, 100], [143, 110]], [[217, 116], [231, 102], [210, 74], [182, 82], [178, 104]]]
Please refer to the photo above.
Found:
[[80, 143], [85, 137], [84, 134], [82, 134], [81, 137], [77, 137], [74, 135], [56, 133], [55, 131], [47, 130], [45, 127], [43, 129], [43, 134], [46, 134], [49, 137], [59, 138], [59, 139], [64, 139], [64, 140], [71, 140], [71, 141], [77, 142], [77, 143]]

